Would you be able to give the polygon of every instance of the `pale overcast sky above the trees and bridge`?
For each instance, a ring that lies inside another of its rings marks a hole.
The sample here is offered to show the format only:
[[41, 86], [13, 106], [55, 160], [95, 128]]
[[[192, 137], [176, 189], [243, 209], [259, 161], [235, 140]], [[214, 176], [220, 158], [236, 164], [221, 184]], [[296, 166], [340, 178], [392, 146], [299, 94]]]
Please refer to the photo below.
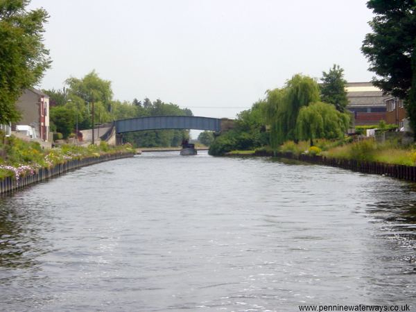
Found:
[[53, 64], [40, 87], [60, 89], [95, 69], [121, 101], [147, 96], [234, 118], [295, 73], [320, 78], [336, 63], [348, 81], [370, 80], [360, 51], [372, 18], [365, 3], [33, 0], [51, 15]]

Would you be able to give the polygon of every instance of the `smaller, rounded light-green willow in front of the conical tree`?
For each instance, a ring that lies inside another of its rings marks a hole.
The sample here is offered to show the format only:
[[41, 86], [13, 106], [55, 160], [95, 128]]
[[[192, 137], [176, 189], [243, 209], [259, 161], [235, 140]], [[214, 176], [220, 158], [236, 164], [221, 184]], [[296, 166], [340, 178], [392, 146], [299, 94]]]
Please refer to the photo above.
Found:
[[334, 105], [328, 103], [312, 103], [302, 107], [296, 122], [297, 137], [314, 139], [340, 139], [349, 127], [349, 114], [338, 112]]

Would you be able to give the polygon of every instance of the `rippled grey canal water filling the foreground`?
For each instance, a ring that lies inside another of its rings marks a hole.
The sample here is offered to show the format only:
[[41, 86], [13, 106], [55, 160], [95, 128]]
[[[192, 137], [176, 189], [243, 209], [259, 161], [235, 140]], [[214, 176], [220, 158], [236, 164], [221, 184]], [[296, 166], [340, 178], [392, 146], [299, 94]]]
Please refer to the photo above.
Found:
[[415, 250], [415, 184], [144, 153], [0, 199], [0, 310], [415, 311]]

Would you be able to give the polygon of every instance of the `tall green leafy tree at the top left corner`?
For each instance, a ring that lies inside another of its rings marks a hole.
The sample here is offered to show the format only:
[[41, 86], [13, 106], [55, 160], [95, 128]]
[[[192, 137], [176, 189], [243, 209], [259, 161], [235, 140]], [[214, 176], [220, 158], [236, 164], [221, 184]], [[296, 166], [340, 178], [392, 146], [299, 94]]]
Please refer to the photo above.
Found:
[[43, 44], [43, 8], [26, 10], [28, 0], [0, 1], [0, 123], [19, 120], [15, 106], [24, 89], [40, 83], [50, 67]]

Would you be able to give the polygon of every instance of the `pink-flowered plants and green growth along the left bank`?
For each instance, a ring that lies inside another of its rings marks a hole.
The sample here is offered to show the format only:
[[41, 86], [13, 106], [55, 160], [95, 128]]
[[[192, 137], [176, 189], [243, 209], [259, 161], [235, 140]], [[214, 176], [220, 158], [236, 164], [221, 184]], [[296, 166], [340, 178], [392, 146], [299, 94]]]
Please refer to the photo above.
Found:
[[0, 132], [0, 179], [33, 175], [39, 168], [51, 168], [72, 159], [99, 157], [114, 153], [135, 153], [130, 144], [108, 146], [101, 141], [99, 145], [88, 147], [64, 144], [58, 148], [44, 150], [35, 141], [24, 141], [17, 137], [5, 137]]

